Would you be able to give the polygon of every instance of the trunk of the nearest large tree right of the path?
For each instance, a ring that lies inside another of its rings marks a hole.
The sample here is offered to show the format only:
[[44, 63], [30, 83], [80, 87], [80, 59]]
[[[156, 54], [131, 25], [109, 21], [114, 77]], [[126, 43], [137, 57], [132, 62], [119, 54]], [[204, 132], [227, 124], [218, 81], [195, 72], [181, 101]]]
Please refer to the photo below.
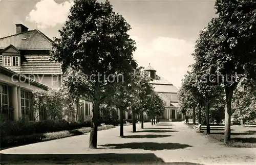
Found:
[[225, 133], [224, 133], [224, 144], [230, 142], [231, 136], [231, 102], [233, 96], [234, 86], [226, 87], [226, 106], [225, 106]]

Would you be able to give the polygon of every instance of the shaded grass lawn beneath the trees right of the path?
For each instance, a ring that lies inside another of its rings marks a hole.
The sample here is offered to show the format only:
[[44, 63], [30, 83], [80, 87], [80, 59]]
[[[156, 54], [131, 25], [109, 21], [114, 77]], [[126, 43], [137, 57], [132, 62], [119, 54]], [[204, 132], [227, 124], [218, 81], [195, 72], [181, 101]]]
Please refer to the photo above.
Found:
[[[193, 128], [193, 124], [186, 124]], [[224, 142], [224, 126], [210, 127], [210, 134], [206, 134], [206, 127], [203, 126], [201, 134], [205, 135], [210, 142]], [[256, 148], [256, 130], [249, 126], [231, 126], [231, 141], [227, 147]]]

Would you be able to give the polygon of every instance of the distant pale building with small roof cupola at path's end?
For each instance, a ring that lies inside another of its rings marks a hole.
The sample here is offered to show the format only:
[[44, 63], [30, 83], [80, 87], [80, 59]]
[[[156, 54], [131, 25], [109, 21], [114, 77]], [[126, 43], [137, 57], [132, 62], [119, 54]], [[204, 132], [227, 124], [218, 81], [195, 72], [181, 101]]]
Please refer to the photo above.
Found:
[[159, 116], [159, 119], [167, 120], [177, 120], [182, 119], [182, 114], [178, 113], [178, 88], [172, 83], [168, 82], [161, 76], [157, 75], [157, 71], [149, 65], [145, 68], [145, 71], [148, 72], [153, 81], [151, 84], [154, 87], [154, 90], [159, 94], [160, 98], [165, 104], [165, 111], [162, 116]]

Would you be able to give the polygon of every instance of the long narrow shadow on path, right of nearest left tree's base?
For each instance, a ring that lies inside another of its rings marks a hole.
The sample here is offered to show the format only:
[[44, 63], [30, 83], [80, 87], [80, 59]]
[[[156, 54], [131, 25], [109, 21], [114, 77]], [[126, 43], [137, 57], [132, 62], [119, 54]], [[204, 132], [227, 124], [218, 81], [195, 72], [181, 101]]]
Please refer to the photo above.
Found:
[[193, 147], [186, 144], [179, 143], [153, 143], [153, 142], [142, 142], [142, 143], [124, 143], [124, 144], [106, 144], [101, 145], [103, 148], [113, 148], [113, 149], [143, 149], [143, 150], [175, 150], [184, 149], [187, 147]]

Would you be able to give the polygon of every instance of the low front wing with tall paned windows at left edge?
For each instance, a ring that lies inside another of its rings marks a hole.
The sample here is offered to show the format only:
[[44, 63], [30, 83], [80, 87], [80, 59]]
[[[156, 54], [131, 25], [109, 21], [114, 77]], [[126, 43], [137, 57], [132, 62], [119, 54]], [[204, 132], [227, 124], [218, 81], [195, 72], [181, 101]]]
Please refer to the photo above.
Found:
[[0, 66], [0, 112], [1, 121], [17, 121], [26, 116], [28, 120], [34, 120], [32, 108], [32, 91], [48, 86], [32, 81], [27, 77], [17, 74], [3, 66]]

